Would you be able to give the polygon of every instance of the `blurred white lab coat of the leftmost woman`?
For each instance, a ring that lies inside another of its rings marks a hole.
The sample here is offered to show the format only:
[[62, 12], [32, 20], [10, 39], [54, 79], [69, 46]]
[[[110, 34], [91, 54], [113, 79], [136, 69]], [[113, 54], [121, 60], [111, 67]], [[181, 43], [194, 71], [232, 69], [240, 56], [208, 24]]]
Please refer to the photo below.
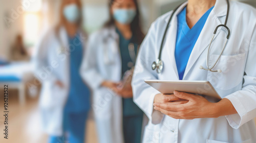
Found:
[[[82, 38], [85, 37], [84, 34], [80, 34]], [[39, 100], [42, 127], [46, 133], [56, 136], [62, 135], [62, 114], [70, 86], [70, 52], [72, 49], [68, 41], [68, 34], [64, 27], [61, 27], [57, 34], [55, 34], [55, 29], [51, 29], [38, 42], [34, 56], [35, 76], [42, 83]], [[79, 41], [75, 42], [79, 43]], [[82, 41], [81, 44], [85, 42]], [[85, 46], [83, 51], [85, 51]], [[61, 81], [64, 87], [57, 86], [56, 81]]]

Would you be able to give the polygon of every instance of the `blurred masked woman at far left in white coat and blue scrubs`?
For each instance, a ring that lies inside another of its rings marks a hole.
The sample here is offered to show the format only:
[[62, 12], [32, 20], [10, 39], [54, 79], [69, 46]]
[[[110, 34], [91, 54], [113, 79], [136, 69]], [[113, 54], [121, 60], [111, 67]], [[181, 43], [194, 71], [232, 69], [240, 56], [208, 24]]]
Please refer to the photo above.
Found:
[[42, 37], [36, 76], [42, 82], [39, 106], [49, 142], [84, 142], [90, 89], [79, 75], [86, 51], [80, 0], [63, 0], [59, 24]]

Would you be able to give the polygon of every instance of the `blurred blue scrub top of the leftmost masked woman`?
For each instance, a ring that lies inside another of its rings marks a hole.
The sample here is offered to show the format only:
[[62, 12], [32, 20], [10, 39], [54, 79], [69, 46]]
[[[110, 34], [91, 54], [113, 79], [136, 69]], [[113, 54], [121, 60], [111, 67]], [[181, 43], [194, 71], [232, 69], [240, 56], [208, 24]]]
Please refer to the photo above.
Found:
[[[76, 34], [79, 35], [79, 34]], [[77, 44], [80, 37], [69, 37], [70, 45], [70, 90], [66, 110], [73, 112], [90, 109], [90, 89], [83, 82], [79, 69], [83, 58], [83, 44]]]

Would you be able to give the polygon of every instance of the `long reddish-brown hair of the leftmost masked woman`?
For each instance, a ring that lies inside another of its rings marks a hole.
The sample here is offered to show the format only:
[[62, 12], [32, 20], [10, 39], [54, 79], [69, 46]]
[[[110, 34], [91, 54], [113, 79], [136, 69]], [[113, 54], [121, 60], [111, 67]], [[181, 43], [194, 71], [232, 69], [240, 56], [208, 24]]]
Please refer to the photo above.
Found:
[[[59, 22], [58, 22], [58, 24], [56, 26], [56, 32], [59, 31], [60, 27], [62, 27], [66, 22], [68, 22], [66, 20], [65, 16], [64, 16], [64, 14], [63, 14], [63, 10], [64, 10], [64, 8], [66, 6], [66, 1], [67, 0], [61, 0], [60, 9], [59, 9], [59, 17], [60, 18], [59, 18]], [[82, 2], [81, 2], [81, 0], [77, 0], [77, 6], [80, 9], [80, 18], [77, 21], [77, 25], [78, 25], [79, 28], [81, 28], [81, 26], [82, 26], [82, 12], [81, 12], [81, 10], [82, 10]]]

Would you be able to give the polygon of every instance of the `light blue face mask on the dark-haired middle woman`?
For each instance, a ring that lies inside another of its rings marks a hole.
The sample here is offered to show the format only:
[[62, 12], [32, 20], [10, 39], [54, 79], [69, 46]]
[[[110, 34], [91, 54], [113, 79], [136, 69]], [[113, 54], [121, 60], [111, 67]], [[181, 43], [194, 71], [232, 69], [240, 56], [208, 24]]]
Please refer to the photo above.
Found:
[[136, 9], [115, 9], [113, 16], [118, 22], [128, 25], [136, 16]]

